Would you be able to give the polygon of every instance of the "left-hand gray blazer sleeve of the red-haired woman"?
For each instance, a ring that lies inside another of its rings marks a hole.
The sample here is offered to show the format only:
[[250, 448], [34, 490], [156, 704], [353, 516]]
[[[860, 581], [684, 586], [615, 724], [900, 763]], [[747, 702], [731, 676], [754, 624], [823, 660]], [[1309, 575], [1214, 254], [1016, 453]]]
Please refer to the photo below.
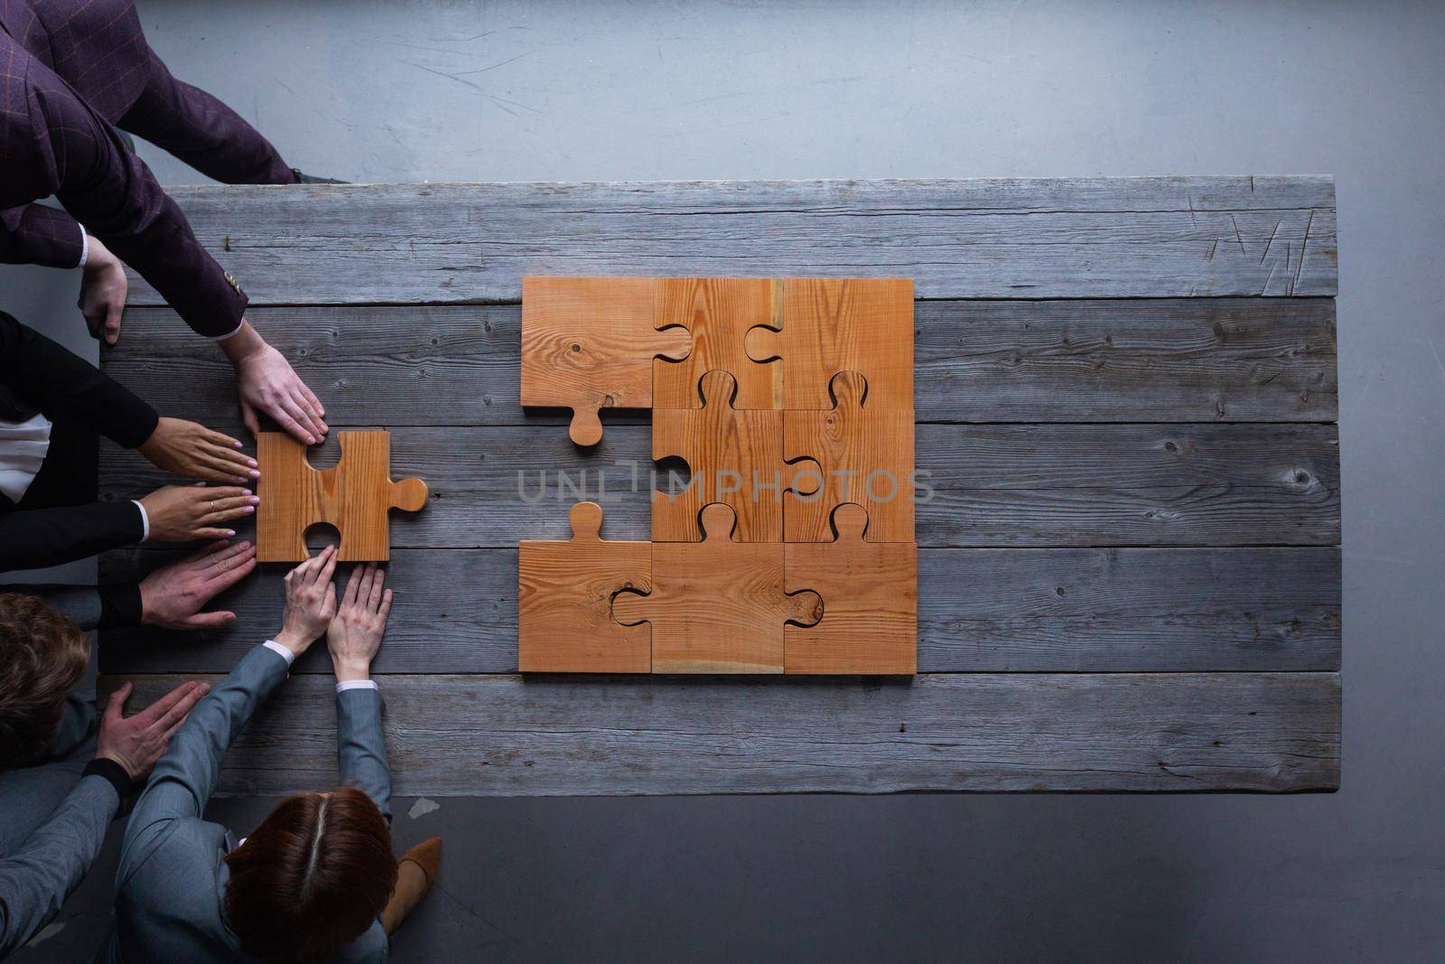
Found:
[[256, 646], [195, 704], [191, 715], [171, 737], [166, 754], [156, 763], [144, 792], [136, 801], [120, 851], [117, 887], [124, 886], [146, 863], [178, 819], [201, 817], [221, 778], [221, 760], [231, 747], [231, 740], [286, 679], [288, 669], [279, 653]]

